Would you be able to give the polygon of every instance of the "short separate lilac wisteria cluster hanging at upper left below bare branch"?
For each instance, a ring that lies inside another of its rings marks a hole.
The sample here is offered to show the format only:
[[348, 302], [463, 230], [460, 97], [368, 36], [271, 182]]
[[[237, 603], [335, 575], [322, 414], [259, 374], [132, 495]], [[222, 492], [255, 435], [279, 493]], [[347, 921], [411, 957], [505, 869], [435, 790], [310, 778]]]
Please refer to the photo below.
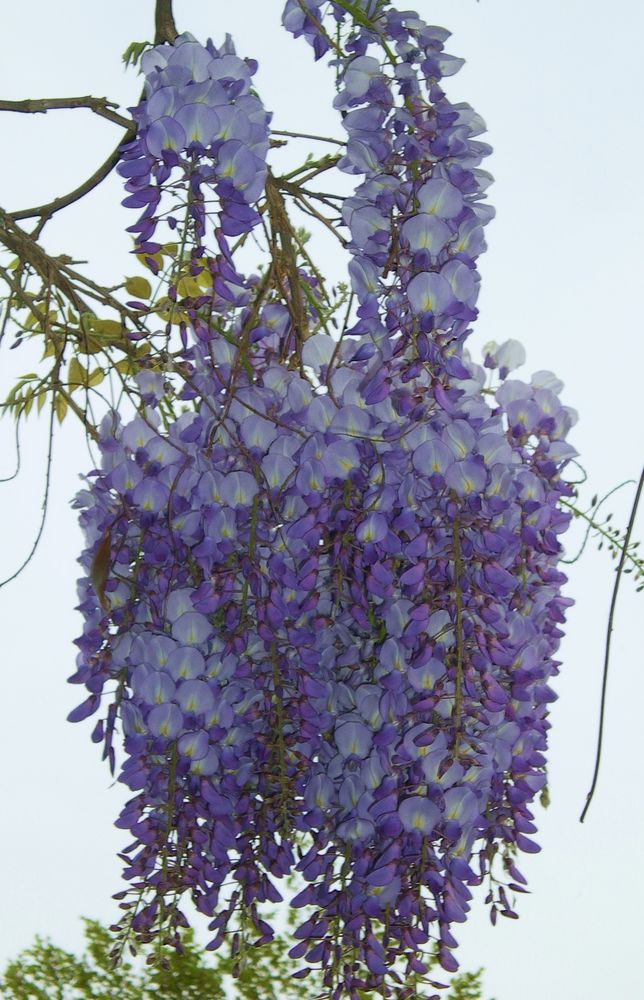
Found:
[[127, 178], [124, 205], [141, 209], [128, 228], [137, 248], [159, 250], [152, 238], [161, 220], [171, 229], [191, 223], [191, 248], [207, 219], [223, 236], [249, 232], [259, 222], [254, 206], [266, 183], [270, 120], [251, 92], [257, 64], [236, 55], [230, 36], [217, 49], [185, 33], [146, 52], [141, 65], [138, 131], [118, 166]]

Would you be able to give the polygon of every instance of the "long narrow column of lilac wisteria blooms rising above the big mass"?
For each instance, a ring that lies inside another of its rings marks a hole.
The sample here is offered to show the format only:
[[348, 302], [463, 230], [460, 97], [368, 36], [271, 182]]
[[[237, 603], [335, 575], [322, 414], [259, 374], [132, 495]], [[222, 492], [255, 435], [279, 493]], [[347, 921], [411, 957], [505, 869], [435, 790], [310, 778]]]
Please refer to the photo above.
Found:
[[[485, 125], [467, 104], [451, 104], [440, 81], [463, 60], [446, 54], [449, 32], [389, 4], [363, 4], [366, 26], [341, 4], [289, 0], [284, 24], [314, 43], [334, 33], [328, 19], [351, 25], [349, 54], [335, 62], [347, 152], [340, 169], [366, 175], [345, 201], [353, 254], [349, 272], [360, 302], [353, 333], [381, 350], [413, 340], [423, 360], [460, 344], [476, 318], [476, 260], [493, 210], [483, 203], [491, 177], [479, 168], [490, 147]], [[371, 54], [373, 50], [375, 54]], [[449, 365], [448, 365], [449, 367]]]

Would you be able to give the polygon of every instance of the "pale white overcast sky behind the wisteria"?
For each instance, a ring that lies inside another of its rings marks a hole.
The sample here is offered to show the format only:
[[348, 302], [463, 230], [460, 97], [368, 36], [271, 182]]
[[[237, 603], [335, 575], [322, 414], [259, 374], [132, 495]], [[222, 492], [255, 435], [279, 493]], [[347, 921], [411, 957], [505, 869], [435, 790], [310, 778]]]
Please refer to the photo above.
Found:
[[[410, 6], [413, 6], [410, 0]], [[590, 477], [586, 498], [637, 478], [642, 434], [644, 276], [644, 73], [640, 0], [417, 0], [421, 15], [453, 32], [448, 50], [466, 66], [447, 81], [488, 123], [486, 166], [498, 216], [481, 260], [476, 353], [488, 340], [521, 340], [528, 373], [554, 370], [580, 412], [573, 443]], [[120, 56], [152, 35], [153, 0], [4, 0], [0, 8], [3, 98], [109, 96], [136, 102], [140, 80]], [[407, 6], [406, 3], [403, 6]], [[260, 61], [257, 86], [276, 128], [331, 134], [332, 77], [309, 47], [279, 26], [281, 0], [176, 0], [180, 30], [215, 43], [226, 31]], [[0, 118], [0, 205], [38, 204], [88, 176], [118, 130], [84, 111]], [[306, 152], [306, 149], [304, 149]], [[93, 262], [113, 282], [128, 271], [117, 178], [59, 215], [48, 247]], [[341, 262], [328, 259], [341, 274]], [[29, 370], [22, 351], [2, 356], [3, 392]], [[0, 573], [29, 548], [39, 515], [45, 424], [31, 418], [23, 470], [0, 486]], [[112, 828], [123, 799], [89, 741], [89, 724], [65, 721], [79, 689], [72, 639], [80, 628], [75, 559], [81, 546], [69, 501], [89, 467], [82, 435], [56, 442], [46, 533], [24, 575], [0, 591], [0, 965], [36, 933], [80, 945], [79, 917], [110, 921], [120, 888]], [[12, 431], [0, 423], [0, 476], [13, 464]], [[633, 487], [607, 509], [625, 524]], [[640, 518], [639, 535], [644, 532]], [[572, 541], [572, 540], [571, 540]], [[578, 815], [593, 764], [602, 645], [612, 585], [605, 553], [572, 567], [576, 601], [562, 647], [552, 712], [552, 806], [538, 810], [542, 853], [522, 858], [532, 895], [521, 919], [493, 929], [482, 900], [456, 928], [465, 968], [485, 966], [496, 1000], [644, 997], [644, 594], [624, 580], [608, 700], [603, 770], [586, 823]]]

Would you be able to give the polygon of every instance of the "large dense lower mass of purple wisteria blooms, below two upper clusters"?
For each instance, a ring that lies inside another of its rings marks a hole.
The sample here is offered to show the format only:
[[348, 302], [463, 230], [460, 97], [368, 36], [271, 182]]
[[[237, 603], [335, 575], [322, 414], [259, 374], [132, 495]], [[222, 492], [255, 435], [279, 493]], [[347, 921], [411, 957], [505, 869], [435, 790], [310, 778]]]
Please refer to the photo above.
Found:
[[[334, 350], [305, 346], [313, 383]], [[208, 356], [225, 367], [229, 352]], [[318, 915], [294, 954], [347, 990], [376, 988], [401, 956], [418, 968], [433, 924], [452, 967], [473, 854], [533, 849], [569, 418], [549, 389], [506, 382], [509, 426], [472, 375], [454, 414], [432, 401], [411, 418], [365, 403], [363, 363], [338, 365], [332, 395], [277, 365], [233, 400], [213, 379], [167, 434], [154, 408], [107, 420], [79, 500], [74, 680], [91, 693], [75, 717], [118, 683], [97, 738], [110, 753], [118, 715], [137, 793], [119, 820], [136, 838], [128, 876], [159, 897], [190, 890], [218, 944], [240, 906], [269, 933], [254, 908], [308, 845], [296, 902]], [[367, 971], [338, 971], [339, 926]]]

